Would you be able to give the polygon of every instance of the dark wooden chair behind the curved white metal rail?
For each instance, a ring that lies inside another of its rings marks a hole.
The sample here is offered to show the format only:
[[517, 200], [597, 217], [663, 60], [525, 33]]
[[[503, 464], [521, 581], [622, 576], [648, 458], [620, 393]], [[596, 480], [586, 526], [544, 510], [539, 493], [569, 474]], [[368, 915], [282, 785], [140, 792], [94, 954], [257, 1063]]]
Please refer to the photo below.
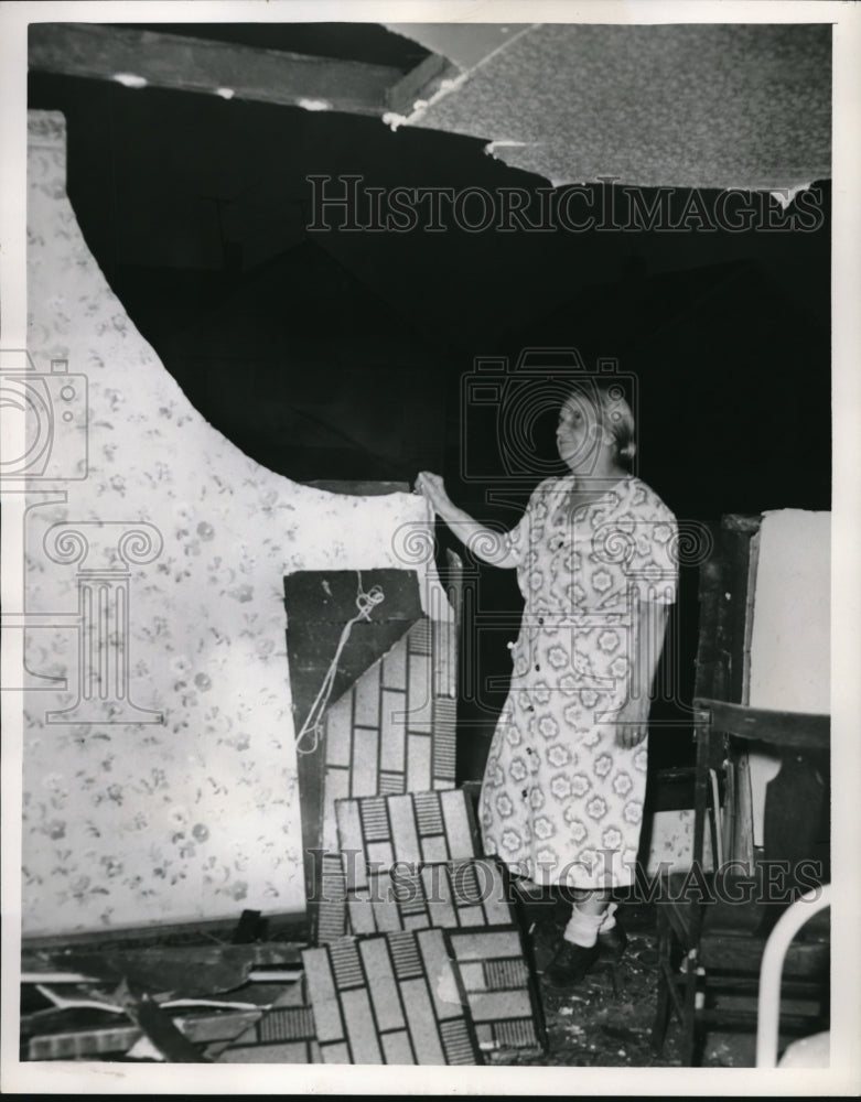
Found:
[[[758, 972], [768, 933], [828, 867], [827, 715], [784, 713], [695, 700], [695, 834], [691, 873], [669, 876], [658, 899], [658, 1003], [653, 1029], [663, 1046], [668, 1016], [682, 1026], [682, 1060], [697, 1061], [707, 1027], [756, 1028]], [[744, 764], [768, 747], [781, 768], [766, 790], [764, 843], [754, 849]], [[718, 855], [703, 872], [706, 832]], [[747, 856], [740, 856], [746, 851]], [[786, 958], [785, 1033], [827, 1028], [828, 934], [808, 923]], [[750, 1004], [750, 1005], [745, 1005]]]

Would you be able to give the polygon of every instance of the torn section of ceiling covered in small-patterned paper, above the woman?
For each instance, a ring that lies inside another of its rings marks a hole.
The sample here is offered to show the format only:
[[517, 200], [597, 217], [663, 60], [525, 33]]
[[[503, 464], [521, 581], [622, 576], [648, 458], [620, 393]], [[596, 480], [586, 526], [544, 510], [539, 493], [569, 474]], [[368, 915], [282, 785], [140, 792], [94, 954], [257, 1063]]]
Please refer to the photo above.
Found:
[[827, 24], [386, 24], [454, 61], [387, 121], [552, 183], [797, 191], [831, 175]]

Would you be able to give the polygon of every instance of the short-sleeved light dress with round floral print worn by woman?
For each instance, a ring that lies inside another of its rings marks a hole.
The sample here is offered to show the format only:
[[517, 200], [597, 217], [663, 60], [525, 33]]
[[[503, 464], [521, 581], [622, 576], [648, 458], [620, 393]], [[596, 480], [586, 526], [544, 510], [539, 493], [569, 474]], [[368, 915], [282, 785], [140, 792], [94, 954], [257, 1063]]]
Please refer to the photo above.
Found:
[[487, 854], [537, 884], [634, 879], [647, 749], [616, 745], [643, 602], [676, 599], [676, 518], [636, 477], [568, 508], [548, 478], [507, 534], [525, 608], [481, 795]]

